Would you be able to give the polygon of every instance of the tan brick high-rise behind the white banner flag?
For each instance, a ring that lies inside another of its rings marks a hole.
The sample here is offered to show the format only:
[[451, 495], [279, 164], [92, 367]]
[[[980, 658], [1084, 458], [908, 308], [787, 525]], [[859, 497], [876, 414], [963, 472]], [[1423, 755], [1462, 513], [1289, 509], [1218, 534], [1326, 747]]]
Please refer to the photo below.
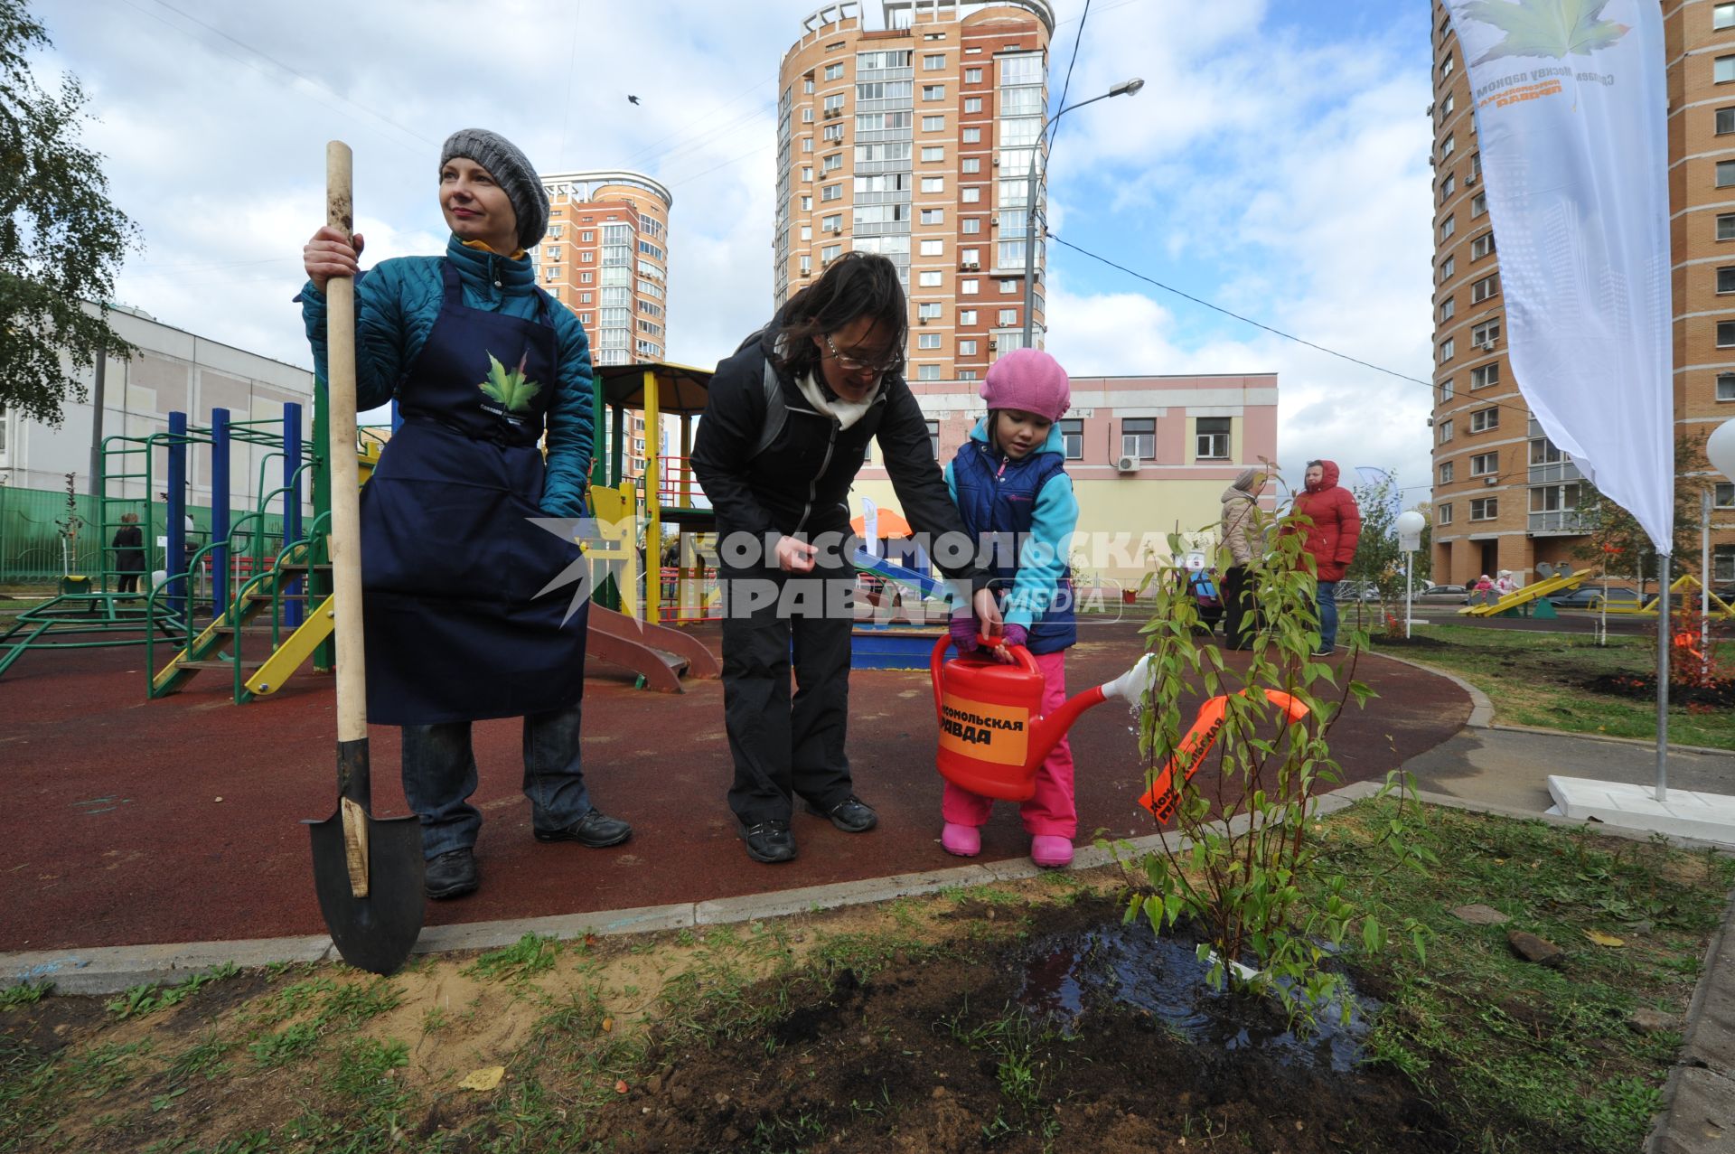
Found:
[[[1529, 416], [1506, 359], [1499, 255], [1482, 186], [1468, 69], [1445, 9], [1433, 14], [1435, 406], [1433, 578], [1466, 583], [1541, 562], [1586, 567], [1581, 474]], [[1671, 0], [1669, 219], [1674, 269], [1676, 469], [1697, 488], [1697, 449], [1735, 416], [1735, 3]], [[1707, 481], [1711, 481], [1707, 477]], [[1712, 524], [1735, 521], [1735, 484], [1714, 481]], [[1678, 557], [1697, 571], [1697, 557]], [[1627, 573], [1631, 559], [1610, 564]], [[1712, 576], [1735, 581], [1735, 533], [1712, 533]]]

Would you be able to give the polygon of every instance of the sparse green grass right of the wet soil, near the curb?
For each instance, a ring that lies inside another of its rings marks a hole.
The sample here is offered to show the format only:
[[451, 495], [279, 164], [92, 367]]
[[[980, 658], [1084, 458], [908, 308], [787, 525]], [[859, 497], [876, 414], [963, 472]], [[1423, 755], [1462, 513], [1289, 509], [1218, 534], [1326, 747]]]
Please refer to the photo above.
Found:
[[[1327, 875], [1386, 925], [1428, 927], [1428, 960], [1388, 949], [1369, 960], [1391, 982], [1367, 1048], [1409, 1076], [1490, 1152], [1581, 1140], [1608, 1154], [1638, 1149], [1652, 1126], [1673, 1052], [1634, 1033], [1638, 1008], [1683, 1010], [1693, 993], [1685, 954], [1718, 925], [1735, 861], [1660, 840], [1622, 842], [1541, 821], [1428, 810], [1411, 838], [1438, 864], [1390, 873], [1371, 842], [1395, 802], [1322, 823]], [[1449, 911], [1487, 904], [1506, 925], [1468, 925]], [[1567, 951], [1560, 968], [1522, 961], [1508, 930]], [[1588, 935], [1619, 939], [1600, 946]], [[1452, 1071], [1452, 1086], [1440, 1071]]]

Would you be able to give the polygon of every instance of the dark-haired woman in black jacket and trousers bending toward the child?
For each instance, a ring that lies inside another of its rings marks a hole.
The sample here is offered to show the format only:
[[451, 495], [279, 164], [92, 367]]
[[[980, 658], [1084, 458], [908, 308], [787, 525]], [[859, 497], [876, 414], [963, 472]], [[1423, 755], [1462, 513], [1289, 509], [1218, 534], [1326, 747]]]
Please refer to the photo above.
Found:
[[795, 859], [795, 797], [847, 833], [878, 821], [855, 797], [843, 748], [855, 585], [847, 496], [869, 441], [880, 443], [904, 517], [933, 538], [928, 555], [968, 583], [982, 632], [999, 632], [987, 574], [973, 564], [926, 418], [904, 384], [907, 335], [897, 267], [852, 252], [711, 377], [692, 470], [717, 510], [729, 805], [753, 861]]

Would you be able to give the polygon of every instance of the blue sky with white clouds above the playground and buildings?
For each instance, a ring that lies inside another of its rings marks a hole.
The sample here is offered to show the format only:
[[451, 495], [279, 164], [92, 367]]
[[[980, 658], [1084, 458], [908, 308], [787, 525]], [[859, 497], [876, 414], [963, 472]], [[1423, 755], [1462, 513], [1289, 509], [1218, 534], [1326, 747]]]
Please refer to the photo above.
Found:
[[[356, 149], [368, 260], [444, 245], [439, 142], [670, 186], [670, 357], [713, 364], [770, 312], [777, 64], [817, 0], [31, 0], [144, 238], [118, 298], [311, 366], [290, 297], [324, 142]], [[1050, 351], [1076, 375], [1277, 371], [1280, 462], [1428, 481], [1428, 7], [1057, 0]], [[876, 26], [876, 5], [868, 9]], [[1083, 30], [1083, 35], [1081, 35]], [[1077, 56], [1074, 62], [1074, 40]], [[633, 106], [628, 94], [640, 97]], [[1149, 278], [1149, 279], [1140, 279]], [[1424, 488], [1407, 500], [1426, 496]]]

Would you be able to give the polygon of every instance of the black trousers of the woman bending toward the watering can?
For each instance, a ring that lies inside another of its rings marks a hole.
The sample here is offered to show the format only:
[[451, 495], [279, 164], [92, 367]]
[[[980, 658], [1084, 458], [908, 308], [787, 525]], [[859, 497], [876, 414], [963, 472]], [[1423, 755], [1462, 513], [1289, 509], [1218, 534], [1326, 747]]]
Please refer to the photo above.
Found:
[[852, 793], [843, 743], [854, 571], [833, 562], [795, 576], [725, 564], [722, 578], [723, 724], [736, 769], [729, 809], [750, 826], [789, 821], [796, 797], [829, 809]]

